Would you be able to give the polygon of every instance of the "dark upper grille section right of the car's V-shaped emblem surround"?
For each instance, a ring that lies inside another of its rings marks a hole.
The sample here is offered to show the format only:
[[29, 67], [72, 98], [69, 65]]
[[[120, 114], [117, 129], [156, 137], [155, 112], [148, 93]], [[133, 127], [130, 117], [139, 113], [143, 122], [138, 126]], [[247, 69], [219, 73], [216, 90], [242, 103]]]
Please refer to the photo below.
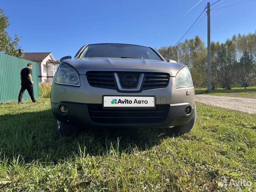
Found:
[[158, 89], [168, 85], [170, 75], [168, 73], [146, 73], [142, 89]]

